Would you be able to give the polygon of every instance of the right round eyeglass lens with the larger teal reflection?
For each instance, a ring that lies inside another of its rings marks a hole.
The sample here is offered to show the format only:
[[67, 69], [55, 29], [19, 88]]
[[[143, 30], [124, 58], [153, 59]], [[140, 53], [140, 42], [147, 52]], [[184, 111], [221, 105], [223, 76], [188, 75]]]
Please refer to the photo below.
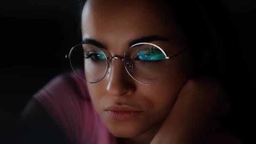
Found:
[[126, 51], [125, 69], [137, 82], [150, 85], [162, 77], [161, 72], [168, 66], [166, 57], [157, 45], [139, 43]]

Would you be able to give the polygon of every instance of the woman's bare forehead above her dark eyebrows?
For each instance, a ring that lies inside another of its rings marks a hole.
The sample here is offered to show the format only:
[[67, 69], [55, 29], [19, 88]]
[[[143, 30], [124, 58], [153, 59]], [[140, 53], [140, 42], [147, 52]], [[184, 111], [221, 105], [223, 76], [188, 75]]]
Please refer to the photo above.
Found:
[[88, 0], [82, 13], [83, 38], [115, 43], [147, 35], [177, 37], [179, 29], [157, 0]]

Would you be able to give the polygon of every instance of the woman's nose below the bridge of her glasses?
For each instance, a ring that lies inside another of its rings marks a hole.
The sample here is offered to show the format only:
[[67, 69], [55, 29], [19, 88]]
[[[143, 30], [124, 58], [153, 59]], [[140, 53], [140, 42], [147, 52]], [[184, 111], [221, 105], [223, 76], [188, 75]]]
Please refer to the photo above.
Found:
[[135, 91], [135, 85], [130, 75], [125, 71], [123, 61], [121, 59], [112, 59], [109, 61], [109, 69], [107, 72], [107, 92], [111, 96], [128, 96]]

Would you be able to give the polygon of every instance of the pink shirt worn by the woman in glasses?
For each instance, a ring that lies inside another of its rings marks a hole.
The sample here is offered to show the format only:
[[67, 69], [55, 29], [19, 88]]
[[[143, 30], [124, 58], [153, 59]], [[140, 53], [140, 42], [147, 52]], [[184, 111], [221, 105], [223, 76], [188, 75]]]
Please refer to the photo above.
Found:
[[[96, 113], [86, 83], [74, 73], [60, 75], [34, 98], [66, 133], [72, 144], [116, 144], [116, 139]], [[230, 133], [213, 127], [208, 144], [241, 144]]]

